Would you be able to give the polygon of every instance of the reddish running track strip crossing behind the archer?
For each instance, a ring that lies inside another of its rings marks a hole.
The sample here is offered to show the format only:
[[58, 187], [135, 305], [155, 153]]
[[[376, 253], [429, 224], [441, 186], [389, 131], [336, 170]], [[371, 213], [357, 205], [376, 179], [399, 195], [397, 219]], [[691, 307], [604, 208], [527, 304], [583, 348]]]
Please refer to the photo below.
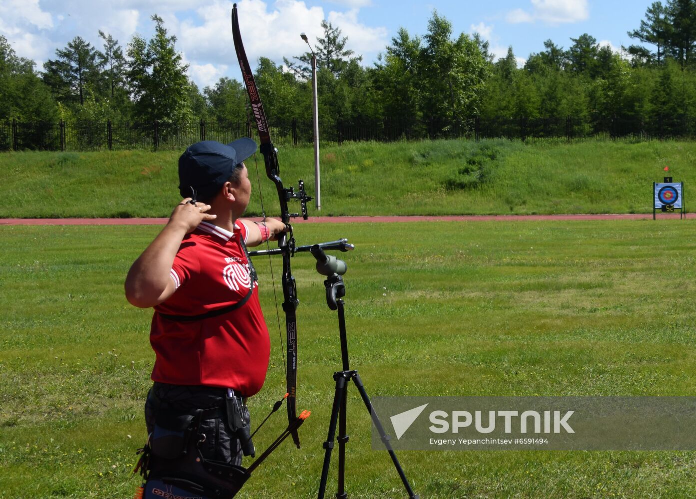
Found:
[[[652, 213], [605, 215], [409, 215], [379, 217], [311, 217], [309, 220], [293, 219], [293, 224], [350, 223], [350, 222], [484, 222], [518, 220], [649, 220]], [[679, 219], [679, 213], [658, 213], [658, 220]], [[687, 213], [686, 218], [696, 218]], [[0, 225], [164, 225], [168, 218], [0, 218]], [[251, 218], [260, 221], [260, 218]]]

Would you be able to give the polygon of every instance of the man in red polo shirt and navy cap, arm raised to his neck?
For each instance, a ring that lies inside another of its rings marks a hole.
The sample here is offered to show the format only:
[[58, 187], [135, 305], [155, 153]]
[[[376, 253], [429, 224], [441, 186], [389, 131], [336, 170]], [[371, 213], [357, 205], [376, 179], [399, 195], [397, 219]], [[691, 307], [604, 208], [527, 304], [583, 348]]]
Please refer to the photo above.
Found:
[[[232, 497], [248, 477], [242, 455], [255, 451], [246, 399], [264, 383], [270, 342], [246, 247], [287, 230], [273, 218], [241, 218], [251, 195], [244, 160], [255, 151], [251, 138], [188, 147], [179, 158], [184, 199], [126, 277], [127, 300], [155, 309], [139, 464], [145, 497]], [[211, 463], [234, 480], [213, 480]]]

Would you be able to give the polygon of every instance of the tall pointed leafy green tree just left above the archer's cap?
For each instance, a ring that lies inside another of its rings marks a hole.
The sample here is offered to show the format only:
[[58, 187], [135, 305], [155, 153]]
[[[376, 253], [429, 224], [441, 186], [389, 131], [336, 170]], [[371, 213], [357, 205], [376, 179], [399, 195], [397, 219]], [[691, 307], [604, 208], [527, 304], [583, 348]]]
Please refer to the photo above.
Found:
[[134, 101], [134, 117], [141, 123], [155, 120], [175, 124], [191, 118], [188, 65], [176, 51], [174, 35], [168, 36], [158, 15], [155, 36], [149, 41], [135, 35], [127, 48], [127, 79]]

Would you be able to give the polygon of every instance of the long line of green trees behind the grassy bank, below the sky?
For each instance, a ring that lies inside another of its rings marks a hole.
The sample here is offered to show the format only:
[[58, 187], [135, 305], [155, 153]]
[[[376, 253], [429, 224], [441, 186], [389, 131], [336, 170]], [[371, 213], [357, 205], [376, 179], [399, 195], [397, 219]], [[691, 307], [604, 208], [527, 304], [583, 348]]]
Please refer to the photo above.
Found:
[[[122, 47], [99, 31], [97, 48], [77, 36], [41, 69], [0, 35], [0, 121], [157, 122], [167, 133], [193, 120], [219, 126], [248, 120], [242, 83], [223, 77], [200, 90], [187, 77], [176, 37], [161, 17], [151, 19], [150, 40], [134, 35]], [[696, 134], [696, 0], [652, 3], [628, 32], [635, 44], [621, 51], [583, 33], [567, 49], [546, 40], [522, 67], [512, 47], [496, 61], [488, 42], [454, 35], [436, 10], [427, 33], [401, 28], [370, 67], [340, 29], [324, 21], [322, 30], [315, 52], [323, 130], [443, 137], [472, 133], [480, 122], [501, 130], [539, 120], [567, 128], [572, 117], [596, 131], [623, 122], [627, 133]], [[281, 133], [291, 127], [297, 133], [299, 124], [311, 136], [311, 57], [299, 54], [282, 65], [258, 60], [264, 108]]]

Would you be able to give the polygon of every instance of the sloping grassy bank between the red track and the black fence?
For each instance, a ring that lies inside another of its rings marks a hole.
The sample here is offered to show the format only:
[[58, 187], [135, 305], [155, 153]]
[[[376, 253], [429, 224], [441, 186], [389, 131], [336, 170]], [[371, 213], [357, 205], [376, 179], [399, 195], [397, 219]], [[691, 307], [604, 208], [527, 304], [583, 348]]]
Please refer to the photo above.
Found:
[[[177, 202], [180, 152], [0, 154], [0, 218], [164, 217]], [[280, 150], [287, 186], [314, 192], [313, 149]], [[321, 215], [649, 213], [665, 165], [696, 185], [696, 142], [436, 140], [351, 142], [322, 148]], [[278, 213], [262, 156], [267, 213]], [[255, 194], [248, 215], [261, 213]], [[310, 214], [319, 214], [310, 211]]]

